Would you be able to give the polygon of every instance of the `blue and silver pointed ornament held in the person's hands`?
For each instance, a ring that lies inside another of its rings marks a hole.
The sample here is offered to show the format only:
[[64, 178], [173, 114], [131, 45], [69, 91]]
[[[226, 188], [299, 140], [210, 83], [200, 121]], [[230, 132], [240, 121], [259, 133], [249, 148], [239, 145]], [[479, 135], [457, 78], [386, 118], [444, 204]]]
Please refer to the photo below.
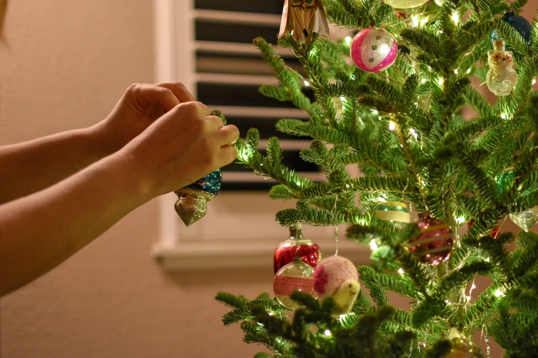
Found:
[[186, 226], [191, 226], [204, 217], [208, 211], [207, 202], [221, 190], [222, 179], [221, 169], [216, 169], [196, 182], [174, 191], [178, 197], [174, 208]]

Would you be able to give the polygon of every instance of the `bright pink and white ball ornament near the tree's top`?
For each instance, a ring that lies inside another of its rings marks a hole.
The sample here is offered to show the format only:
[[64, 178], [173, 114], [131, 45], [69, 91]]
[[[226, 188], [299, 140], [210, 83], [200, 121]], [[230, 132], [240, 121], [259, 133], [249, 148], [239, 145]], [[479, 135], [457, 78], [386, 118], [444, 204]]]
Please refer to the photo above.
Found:
[[350, 54], [359, 69], [377, 73], [394, 63], [398, 43], [387, 30], [369, 27], [355, 35]]

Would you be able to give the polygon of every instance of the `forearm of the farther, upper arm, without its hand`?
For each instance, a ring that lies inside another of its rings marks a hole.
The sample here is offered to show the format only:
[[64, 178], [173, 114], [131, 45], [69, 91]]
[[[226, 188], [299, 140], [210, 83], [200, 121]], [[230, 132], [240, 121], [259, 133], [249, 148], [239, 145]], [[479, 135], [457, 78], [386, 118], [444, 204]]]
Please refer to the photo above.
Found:
[[110, 154], [98, 126], [0, 147], [0, 204], [45, 189]]

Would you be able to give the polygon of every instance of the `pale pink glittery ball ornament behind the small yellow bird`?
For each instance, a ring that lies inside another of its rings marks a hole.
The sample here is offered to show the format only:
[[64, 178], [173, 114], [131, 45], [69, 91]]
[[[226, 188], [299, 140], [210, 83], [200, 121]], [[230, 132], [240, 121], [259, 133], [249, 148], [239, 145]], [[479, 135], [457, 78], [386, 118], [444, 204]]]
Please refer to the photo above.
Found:
[[317, 298], [323, 300], [336, 294], [342, 283], [359, 281], [357, 267], [342, 256], [330, 256], [317, 264], [312, 276], [312, 286]]

